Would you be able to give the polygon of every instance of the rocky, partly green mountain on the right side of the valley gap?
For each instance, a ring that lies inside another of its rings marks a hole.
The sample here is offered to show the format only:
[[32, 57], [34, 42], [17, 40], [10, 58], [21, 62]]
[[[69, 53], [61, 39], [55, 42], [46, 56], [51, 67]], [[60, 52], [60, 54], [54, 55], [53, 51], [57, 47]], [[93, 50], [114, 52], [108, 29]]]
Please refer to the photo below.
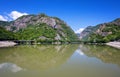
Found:
[[120, 18], [112, 22], [87, 27], [80, 39], [86, 42], [110, 42], [120, 40]]

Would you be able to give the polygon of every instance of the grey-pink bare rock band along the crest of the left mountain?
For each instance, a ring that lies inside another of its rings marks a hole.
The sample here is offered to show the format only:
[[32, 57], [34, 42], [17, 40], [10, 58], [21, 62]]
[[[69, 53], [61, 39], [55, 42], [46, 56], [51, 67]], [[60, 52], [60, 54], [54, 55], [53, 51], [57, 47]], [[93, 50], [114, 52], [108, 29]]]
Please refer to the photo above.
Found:
[[[12, 30], [12, 28], [15, 27], [16, 29], [14, 31], [18, 31], [26, 28], [28, 25], [37, 25], [41, 23], [46, 23], [47, 25], [55, 28], [61, 28], [60, 24], [65, 24], [62, 20], [46, 16], [45, 14], [27, 15], [13, 21], [10, 26], [7, 27], [7, 30]], [[67, 26], [67, 24], [65, 25]]]

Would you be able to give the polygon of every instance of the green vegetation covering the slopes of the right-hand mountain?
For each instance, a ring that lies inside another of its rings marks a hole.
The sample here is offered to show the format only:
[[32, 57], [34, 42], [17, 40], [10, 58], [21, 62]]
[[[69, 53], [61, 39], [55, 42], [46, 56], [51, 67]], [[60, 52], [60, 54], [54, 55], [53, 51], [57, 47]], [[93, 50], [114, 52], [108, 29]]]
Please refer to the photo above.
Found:
[[102, 30], [102, 34], [91, 34], [89, 42], [91, 43], [106, 43], [110, 41], [117, 41], [120, 39], [120, 26], [111, 24], [106, 25]]

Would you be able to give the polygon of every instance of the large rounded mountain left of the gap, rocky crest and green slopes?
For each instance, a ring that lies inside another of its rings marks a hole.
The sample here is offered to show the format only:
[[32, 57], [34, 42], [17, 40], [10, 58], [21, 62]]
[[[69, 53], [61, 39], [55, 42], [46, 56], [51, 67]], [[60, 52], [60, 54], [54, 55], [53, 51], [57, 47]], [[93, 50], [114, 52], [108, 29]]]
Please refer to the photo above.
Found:
[[45, 14], [25, 15], [14, 21], [0, 21], [0, 26], [13, 32], [16, 40], [71, 42], [78, 40], [74, 31], [61, 19]]

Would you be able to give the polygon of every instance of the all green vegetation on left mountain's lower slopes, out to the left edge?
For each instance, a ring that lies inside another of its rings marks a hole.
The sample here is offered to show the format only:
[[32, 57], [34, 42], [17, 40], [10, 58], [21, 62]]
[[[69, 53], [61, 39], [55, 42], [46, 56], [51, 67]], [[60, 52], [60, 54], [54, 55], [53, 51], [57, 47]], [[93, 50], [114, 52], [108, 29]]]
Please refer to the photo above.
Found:
[[[74, 31], [65, 24], [61, 24], [63, 36], [59, 29], [53, 28], [45, 23], [28, 25], [27, 28], [20, 29], [17, 32], [10, 32], [0, 27], [0, 40], [35, 40], [37, 42], [74, 42], [78, 41]], [[11, 31], [15, 31], [16, 27], [12, 26]], [[60, 35], [61, 40], [55, 40], [57, 33]]]

